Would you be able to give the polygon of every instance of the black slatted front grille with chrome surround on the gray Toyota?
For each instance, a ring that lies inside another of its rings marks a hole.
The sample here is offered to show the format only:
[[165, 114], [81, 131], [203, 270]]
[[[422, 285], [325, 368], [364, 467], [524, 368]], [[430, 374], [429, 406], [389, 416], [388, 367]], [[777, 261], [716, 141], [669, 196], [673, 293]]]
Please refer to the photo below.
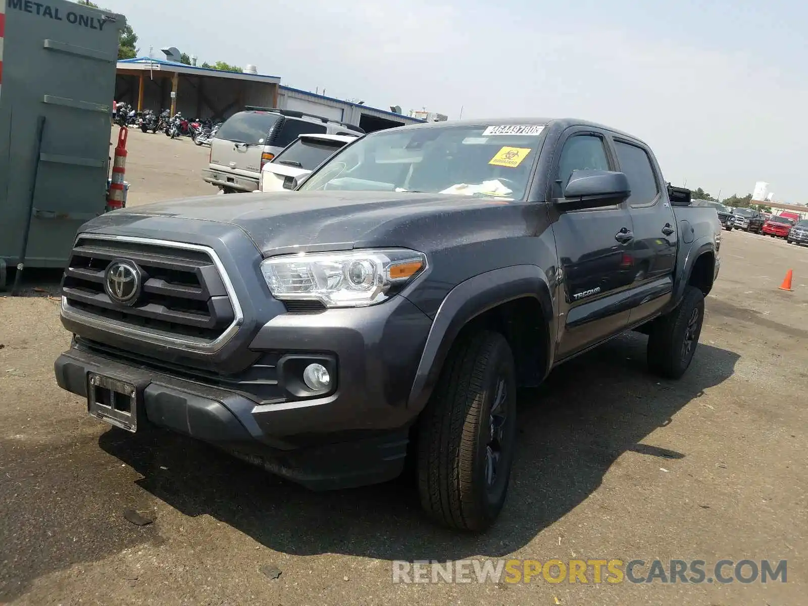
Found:
[[[241, 322], [217, 261], [204, 246], [81, 236], [65, 269], [63, 308], [113, 331], [209, 346]], [[122, 301], [135, 286], [135, 296]]]

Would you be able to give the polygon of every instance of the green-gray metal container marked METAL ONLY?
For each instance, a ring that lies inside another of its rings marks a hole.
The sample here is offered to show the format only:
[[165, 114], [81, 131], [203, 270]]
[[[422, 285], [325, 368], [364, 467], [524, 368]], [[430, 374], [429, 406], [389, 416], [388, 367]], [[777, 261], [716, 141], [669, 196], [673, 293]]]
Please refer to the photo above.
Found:
[[65, 0], [0, 0], [0, 12], [0, 263], [19, 263], [27, 231], [26, 267], [64, 267], [106, 204], [126, 21]]

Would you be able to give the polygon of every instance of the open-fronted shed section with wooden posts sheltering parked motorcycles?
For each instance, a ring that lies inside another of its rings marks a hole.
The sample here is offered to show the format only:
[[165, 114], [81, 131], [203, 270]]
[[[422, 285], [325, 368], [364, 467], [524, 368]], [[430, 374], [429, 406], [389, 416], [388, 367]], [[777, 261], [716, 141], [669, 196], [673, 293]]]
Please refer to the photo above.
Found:
[[118, 61], [115, 99], [139, 112], [170, 108], [172, 116], [179, 111], [218, 120], [245, 105], [276, 107], [279, 83], [278, 76], [137, 57]]

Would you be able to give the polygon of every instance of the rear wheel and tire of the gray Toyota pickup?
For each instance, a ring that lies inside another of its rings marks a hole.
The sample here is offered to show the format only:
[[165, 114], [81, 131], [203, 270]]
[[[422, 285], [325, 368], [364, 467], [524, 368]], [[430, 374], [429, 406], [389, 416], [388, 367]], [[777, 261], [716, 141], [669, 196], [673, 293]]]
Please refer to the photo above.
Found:
[[695, 286], [684, 289], [676, 309], [654, 321], [648, 335], [648, 367], [651, 371], [678, 379], [690, 366], [705, 318], [705, 297]]

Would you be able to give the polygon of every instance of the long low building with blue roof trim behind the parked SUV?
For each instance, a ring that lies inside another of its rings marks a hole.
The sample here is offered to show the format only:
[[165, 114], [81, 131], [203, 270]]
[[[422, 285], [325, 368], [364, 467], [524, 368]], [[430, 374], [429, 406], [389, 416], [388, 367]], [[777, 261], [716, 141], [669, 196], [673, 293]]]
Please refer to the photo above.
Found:
[[149, 57], [124, 59], [117, 64], [115, 99], [138, 111], [170, 108], [172, 115], [182, 112], [213, 120], [224, 120], [247, 105], [278, 107], [356, 124], [368, 133], [424, 121], [280, 86], [279, 76], [258, 74], [250, 68], [229, 72]]

